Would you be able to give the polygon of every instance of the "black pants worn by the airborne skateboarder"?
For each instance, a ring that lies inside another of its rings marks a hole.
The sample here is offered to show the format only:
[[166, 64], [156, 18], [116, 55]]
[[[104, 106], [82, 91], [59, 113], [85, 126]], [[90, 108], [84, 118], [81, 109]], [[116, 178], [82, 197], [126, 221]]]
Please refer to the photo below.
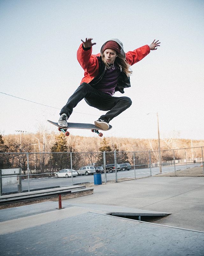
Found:
[[77, 106], [79, 101], [85, 99], [86, 103], [99, 110], [108, 111], [106, 115], [100, 116], [107, 122], [118, 116], [124, 110], [129, 108], [132, 101], [128, 97], [113, 97], [105, 92], [94, 89], [90, 84], [82, 83], [67, 101], [67, 104], [61, 109], [60, 115], [71, 115], [73, 108]]

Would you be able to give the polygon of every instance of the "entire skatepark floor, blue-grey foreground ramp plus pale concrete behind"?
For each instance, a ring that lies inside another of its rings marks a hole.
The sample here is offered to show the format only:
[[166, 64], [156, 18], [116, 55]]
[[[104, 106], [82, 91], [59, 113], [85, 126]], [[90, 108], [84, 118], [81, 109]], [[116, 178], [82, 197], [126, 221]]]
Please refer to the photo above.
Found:
[[[149, 177], [0, 210], [1, 255], [204, 255], [204, 177]], [[110, 212], [166, 212], [151, 223]]]

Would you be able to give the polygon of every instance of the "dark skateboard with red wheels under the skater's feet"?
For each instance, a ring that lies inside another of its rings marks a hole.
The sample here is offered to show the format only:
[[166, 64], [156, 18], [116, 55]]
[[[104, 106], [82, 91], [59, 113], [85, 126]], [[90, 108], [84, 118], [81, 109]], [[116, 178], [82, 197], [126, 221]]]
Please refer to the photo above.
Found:
[[[58, 131], [64, 132], [65, 136], [69, 136], [70, 133], [67, 131], [67, 129], [71, 129], [71, 128], [88, 129], [88, 130], [91, 130], [91, 132], [96, 132], [99, 137], [103, 136], [103, 133], [98, 131], [98, 130], [102, 130], [102, 129], [98, 128], [94, 124], [67, 123], [67, 127], [60, 127], [57, 123], [52, 122], [50, 120], [47, 120], [47, 122], [56, 125], [58, 127]], [[111, 128], [112, 128], [112, 126], [110, 125], [108, 130], [110, 130]], [[106, 130], [106, 131], [108, 131], [108, 130]], [[102, 131], [105, 131], [105, 130], [102, 130]]]

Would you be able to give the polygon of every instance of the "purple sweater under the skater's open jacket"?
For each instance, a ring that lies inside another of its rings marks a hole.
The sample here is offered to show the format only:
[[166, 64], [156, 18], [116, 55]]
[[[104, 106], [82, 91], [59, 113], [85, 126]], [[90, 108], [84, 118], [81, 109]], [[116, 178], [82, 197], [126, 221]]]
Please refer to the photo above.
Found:
[[96, 89], [98, 91], [105, 92], [113, 96], [115, 92], [115, 87], [118, 82], [119, 75], [120, 75], [120, 69], [118, 68], [118, 64], [115, 62], [114, 69], [113, 69], [113, 65], [111, 66], [111, 68], [107, 68], [103, 78], [97, 84]]

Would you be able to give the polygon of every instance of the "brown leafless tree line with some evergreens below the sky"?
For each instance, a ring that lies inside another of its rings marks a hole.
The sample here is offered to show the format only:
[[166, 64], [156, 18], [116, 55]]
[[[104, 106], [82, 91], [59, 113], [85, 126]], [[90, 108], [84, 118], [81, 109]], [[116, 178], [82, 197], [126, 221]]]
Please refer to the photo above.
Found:
[[[193, 145], [193, 148], [191, 148]], [[188, 140], [179, 138], [162, 139], [160, 142], [162, 161], [185, 158], [202, 157], [200, 148], [204, 146], [204, 140]], [[189, 148], [179, 150], [179, 148]], [[172, 149], [175, 149], [174, 152]], [[178, 149], [178, 150], [176, 150]], [[158, 162], [158, 141], [156, 139], [133, 139], [117, 137], [83, 137], [70, 135], [65, 137], [63, 133], [46, 133], [45, 130], [38, 133], [0, 134], [0, 169], [19, 168], [25, 173], [27, 170], [27, 156], [29, 154], [30, 169], [35, 172], [47, 172], [70, 168], [70, 154], [72, 152], [72, 168], [78, 169], [80, 165], [103, 164], [103, 152], [106, 153], [106, 164], [114, 163], [114, 151], [117, 153], [117, 162], [129, 162], [133, 165], [147, 164], [149, 162], [148, 151], [151, 153], [151, 162]], [[48, 153], [50, 154], [40, 154]], [[56, 154], [56, 153], [63, 154]], [[96, 152], [96, 153], [93, 153]], [[97, 154], [98, 152], [98, 154]], [[136, 152], [134, 155], [133, 153]], [[174, 156], [173, 156], [174, 154]], [[134, 159], [135, 158], [135, 159]], [[68, 164], [69, 163], [69, 164]], [[18, 166], [18, 167], [16, 167]]]

